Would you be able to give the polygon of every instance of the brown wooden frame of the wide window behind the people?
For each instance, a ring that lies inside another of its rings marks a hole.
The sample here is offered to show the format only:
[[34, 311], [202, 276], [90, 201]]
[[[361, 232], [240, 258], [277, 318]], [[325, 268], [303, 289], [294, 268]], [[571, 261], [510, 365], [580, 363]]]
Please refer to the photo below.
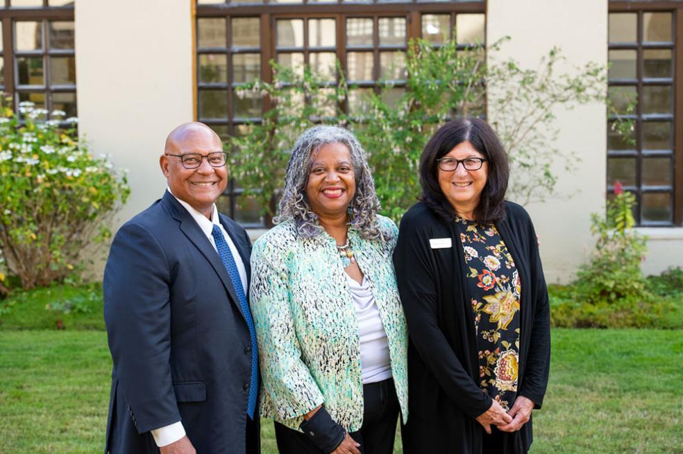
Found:
[[[373, 19], [373, 46], [372, 49], [369, 47], [363, 49], [366, 51], [373, 52], [373, 82], [360, 82], [356, 85], [359, 88], [372, 87], [372, 89], [378, 91], [381, 88], [381, 84], [378, 84], [378, 73], [379, 73], [379, 63], [380, 51], [389, 51], [394, 48], [407, 49], [407, 42], [412, 37], [421, 37], [421, 15], [423, 14], [448, 14], [450, 15], [450, 30], [452, 32], [455, 27], [455, 18], [457, 14], [486, 14], [487, 5], [485, 1], [453, 1], [453, 2], [435, 2], [428, 3], [422, 1], [412, 0], [410, 2], [401, 3], [389, 3], [378, 0], [373, 0], [372, 3], [343, 3], [342, 0], [337, 0], [336, 3], [270, 3], [270, 4], [230, 4], [230, 3], [219, 3], [211, 5], [197, 5], [193, 1], [193, 24], [194, 30], [194, 77], [198, 78], [199, 73], [199, 55], [201, 53], [208, 53], [207, 50], [199, 50], [197, 38], [196, 38], [196, 24], [197, 19], [204, 19], [210, 17], [221, 17], [226, 19], [226, 39], [228, 43], [227, 55], [228, 55], [228, 83], [227, 87], [232, 85], [232, 68], [230, 60], [230, 19], [233, 17], [259, 17], [260, 18], [260, 78], [267, 82], [272, 82], [272, 73], [269, 66], [269, 60], [276, 58], [276, 20], [277, 19], [304, 19], [304, 33], [307, 34], [307, 19], [324, 19], [333, 18], [337, 23], [337, 35], [336, 35], [336, 49], [335, 53], [339, 62], [342, 64], [342, 69], [346, 71], [346, 53], [348, 46], [346, 44], [346, 18], [349, 17], [365, 17]], [[389, 46], [385, 49], [385, 46], [379, 45], [379, 29], [378, 29], [378, 19], [380, 17], [405, 17], [407, 36], [406, 36], [406, 46]], [[484, 23], [484, 27], [486, 24]], [[307, 61], [307, 55], [310, 53], [309, 46], [307, 42], [304, 42], [303, 53], [305, 53], [305, 61]], [[464, 45], [463, 48], [468, 46]], [[301, 50], [297, 50], [301, 52]], [[225, 84], [224, 84], [225, 85]], [[194, 83], [194, 118], [199, 120], [199, 110], [198, 110], [198, 98], [199, 98], [199, 88], [202, 85], [199, 80], [195, 80]], [[405, 87], [405, 82], [399, 82], [394, 87]], [[228, 96], [228, 119], [227, 121], [207, 121], [209, 125], [228, 125], [228, 134], [232, 135], [235, 133], [235, 126], [241, 124], [242, 122], [235, 121], [233, 119], [232, 110], [232, 96]], [[262, 112], [266, 112], [269, 109], [267, 101], [264, 100], [262, 103]], [[346, 110], [347, 103], [344, 101], [342, 103], [342, 108]], [[224, 196], [227, 196], [230, 200], [228, 216], [235, 218], [235, 213], [237, 211], [236, 199], [242, 194], [242, 190], [235, 187], [235, 182], [230, 181]], [[271, 201], [274, 208], [274, 200]], [[244, 227], [247, 228], [264, 228], [271, 226], [271, 219], [264, 219], [263, 223], [243, 223]]]

